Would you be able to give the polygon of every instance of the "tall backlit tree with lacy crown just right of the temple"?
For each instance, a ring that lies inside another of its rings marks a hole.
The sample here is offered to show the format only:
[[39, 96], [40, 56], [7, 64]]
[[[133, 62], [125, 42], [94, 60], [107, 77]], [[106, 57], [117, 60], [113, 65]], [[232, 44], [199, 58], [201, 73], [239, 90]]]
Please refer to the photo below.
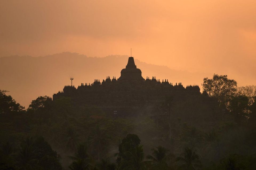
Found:
[[237, 82], [227, 78], [227, 75], [214, 74], [212, 79], [203, 79], [203, 91], [210, 97], [216, 97], [221, 104], [227, 105], [237, 91]]

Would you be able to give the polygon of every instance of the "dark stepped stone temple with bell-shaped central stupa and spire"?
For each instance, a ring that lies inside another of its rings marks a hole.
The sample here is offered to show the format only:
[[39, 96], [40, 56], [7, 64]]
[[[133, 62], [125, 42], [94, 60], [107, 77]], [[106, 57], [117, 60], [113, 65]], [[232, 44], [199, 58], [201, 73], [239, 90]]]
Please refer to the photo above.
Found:
[[81, 83], [75, 86], [65, 86], [63, 91], [53, 95], [53, 101], [60, 97], [71, 97], [76, 104], [97, 105], [106, 113], [135, 114], [142, 111], [146, 105], [165, 101], [166, 96], [177, 94], [200, 95], [199, 86], [183, 87], [181, 83], [169, 83], [168, 79], [144, 79], [141, 70], [134, 63], [134, 58], [129, 57], [121, 76], [116, 79], [107, 78], [102, 82], [95, 79], [93, 83]]

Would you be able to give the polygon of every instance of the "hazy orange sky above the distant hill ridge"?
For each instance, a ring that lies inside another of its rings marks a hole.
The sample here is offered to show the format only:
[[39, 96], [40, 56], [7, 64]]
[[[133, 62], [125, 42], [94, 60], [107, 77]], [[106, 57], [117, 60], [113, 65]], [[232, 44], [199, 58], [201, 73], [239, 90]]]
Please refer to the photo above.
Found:
[[2, 0], [0, 25], [0, 56], [132, 48], [147, 63], [256, 78], [255, 0]]

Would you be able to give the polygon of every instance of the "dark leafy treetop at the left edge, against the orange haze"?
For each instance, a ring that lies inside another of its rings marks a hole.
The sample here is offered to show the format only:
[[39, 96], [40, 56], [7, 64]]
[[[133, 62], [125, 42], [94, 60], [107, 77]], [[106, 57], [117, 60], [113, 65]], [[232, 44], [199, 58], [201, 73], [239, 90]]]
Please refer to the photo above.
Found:
[[21, 106], [19, 103], [16, 103], [16, 101], [10, 95], [7, 96], [5, 94], [6, 92], [8, 91], [0, 90], [0, 114], [24, 111], [25, 107]]

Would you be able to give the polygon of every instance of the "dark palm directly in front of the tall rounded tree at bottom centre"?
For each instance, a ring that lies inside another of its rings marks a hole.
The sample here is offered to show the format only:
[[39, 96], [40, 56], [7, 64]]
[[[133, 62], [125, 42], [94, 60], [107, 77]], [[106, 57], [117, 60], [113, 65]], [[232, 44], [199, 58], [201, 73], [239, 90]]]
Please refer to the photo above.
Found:
[[130, 155], [130, 160], [122, 160], [120, 162], [120, 169], [123, 170], [142, 170], [145, 169], [146, 162], [143, 162], [144, 152], [143, 146], [137, 146], [134, 151], [127, 151], [127, 154]]

